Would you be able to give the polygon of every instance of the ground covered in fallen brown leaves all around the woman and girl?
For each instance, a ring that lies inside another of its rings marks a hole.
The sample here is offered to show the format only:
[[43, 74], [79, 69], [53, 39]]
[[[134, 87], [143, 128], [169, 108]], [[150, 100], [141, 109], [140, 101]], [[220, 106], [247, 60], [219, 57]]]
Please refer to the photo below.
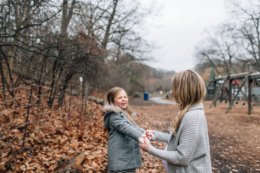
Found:
[[[225, 114], [228, 104], [218, 103], [216, 107], [209, 108], [210, 104], [210, 101], [204, 103], [204, 111], [213, 173], [260, 172], [260, 107], [254, 106], [252, 114], [248, 115], [247, 104], [236, 104]], [[137, 125], [166, 133], [169, 132], [167, 126], [178, 112], [175, 105], [156, 104], [150, 100], [144, 101], [142, 97], [129, 97], [129, 105], [137, 112]], [[38, 133], [51, 133], [40, 138], [34, 138], [36, 134], [31, 133], [28, 140], [31, 147], [26, 148], [25, 153], [14, 155], [6, 165], [3, 163], [8, 155], [1, 156], [0, 172], [61, 172], [73, 160], [78, 172], [106, 172], [108, 133], [103, 125], [102, 108], [102, 105], [89, 101], [87, 110], [75, 111], [69, 123], [63, 124], [59, 130], [52, 129], [52, 126], [41, 129]], [[64, 123], [61, 118], [55, 121]], [[166, 146], [158, 141], [151, 143], [160, 149]], [[142, 150], [141, 155], [143, 164], [137, 169], [138, 173], [164, 172], [160, 159]]]

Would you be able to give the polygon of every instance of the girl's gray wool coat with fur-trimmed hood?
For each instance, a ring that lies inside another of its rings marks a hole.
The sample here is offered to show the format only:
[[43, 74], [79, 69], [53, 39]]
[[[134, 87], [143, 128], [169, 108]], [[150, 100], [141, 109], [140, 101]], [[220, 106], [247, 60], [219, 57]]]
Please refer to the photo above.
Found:
[[[105, 128], [109, 131], [107, 157], [109, 170], [128, 170], [142, 167], [138, 138], [144, 129], [127, 119], [119, 106], [103, 107]], [[133, 112], [133, 118], [136, 112]]]

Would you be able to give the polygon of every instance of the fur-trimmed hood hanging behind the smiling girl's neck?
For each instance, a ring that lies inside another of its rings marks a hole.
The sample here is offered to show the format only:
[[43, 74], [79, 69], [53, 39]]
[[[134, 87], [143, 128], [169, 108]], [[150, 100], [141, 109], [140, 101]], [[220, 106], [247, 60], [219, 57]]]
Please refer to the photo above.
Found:
[[116, 114], [121, 114], [123, 112], [123, 110], [119, 107], [119, 106], [114, 106], [112, 104], [106, 104], [103, 107], [103, 111], [106, 112], [105, 116], [104, 116], [104, 125], [105, 128], [110, 131], [110, 127], [109, 127], [109, 117], [111, 115], [112, 112], [115, 112]]

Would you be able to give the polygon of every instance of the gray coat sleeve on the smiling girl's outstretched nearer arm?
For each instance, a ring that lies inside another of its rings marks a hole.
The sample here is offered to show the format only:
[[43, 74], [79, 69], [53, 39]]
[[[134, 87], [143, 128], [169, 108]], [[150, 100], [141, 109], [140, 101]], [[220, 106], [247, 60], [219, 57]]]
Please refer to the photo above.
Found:
[[120, 133], [123, 133], [138, 141], [139, 136], [143, 133], [129, 124], [127, 119], [123, 118], [122, 116], [125, 115], [112, 113], [109, 118], [109, 123]]

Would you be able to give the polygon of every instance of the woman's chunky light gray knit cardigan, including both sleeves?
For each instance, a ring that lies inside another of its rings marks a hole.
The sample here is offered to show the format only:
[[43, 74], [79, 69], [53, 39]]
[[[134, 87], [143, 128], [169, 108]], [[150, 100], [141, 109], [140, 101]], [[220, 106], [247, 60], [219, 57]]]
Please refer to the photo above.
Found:
[[211, 173], [209, 136], [203, 104], [185, 113], [177, 135], [155, 131], [155, 140], [168, 143], [167, 151], [150, 146], [148, 153], [166, 160], [170, 173]]

